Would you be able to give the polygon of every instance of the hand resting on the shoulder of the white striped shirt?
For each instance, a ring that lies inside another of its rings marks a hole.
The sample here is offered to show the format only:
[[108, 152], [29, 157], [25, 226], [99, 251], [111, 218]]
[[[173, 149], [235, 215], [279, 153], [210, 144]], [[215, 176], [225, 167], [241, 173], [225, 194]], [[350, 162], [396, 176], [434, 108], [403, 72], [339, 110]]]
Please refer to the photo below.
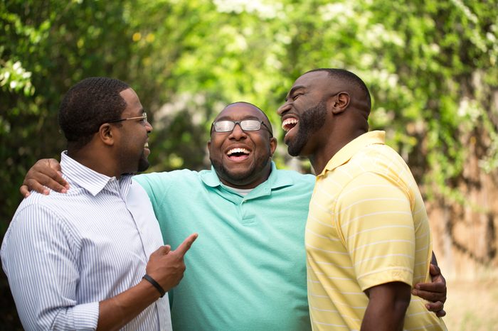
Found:
[[26, 173], [19, 192], [23, 197], [28, 197], [31, 190], [48, 195], [50, 191], [45, 186], [61, 193], [69, 189], [68, 182], [62, 178], [60, 173], [60, 164], [54, 158], [38, 160]]

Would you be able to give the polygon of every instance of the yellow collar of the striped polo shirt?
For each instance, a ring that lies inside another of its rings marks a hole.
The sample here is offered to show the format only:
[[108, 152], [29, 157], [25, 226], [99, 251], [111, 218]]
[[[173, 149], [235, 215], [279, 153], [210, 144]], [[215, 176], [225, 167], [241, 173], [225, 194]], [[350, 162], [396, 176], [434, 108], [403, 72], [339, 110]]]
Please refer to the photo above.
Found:
[[321, 175], [324, 175], [327, 171], [332, 171], [335, 168], [347, 163], [353, 156], [356, 154], [361, 148], [365, 146], [372, 145], [374, 143], [385, 143], [386, 141], [386, 132], [385, 131], [370, 131], [366, 134], [362, 134], [361, 136], [353, 139], [346, 146], [339, 149], [339, 151], [332, 156], [327, 165], [325, 165], [324, 170]]

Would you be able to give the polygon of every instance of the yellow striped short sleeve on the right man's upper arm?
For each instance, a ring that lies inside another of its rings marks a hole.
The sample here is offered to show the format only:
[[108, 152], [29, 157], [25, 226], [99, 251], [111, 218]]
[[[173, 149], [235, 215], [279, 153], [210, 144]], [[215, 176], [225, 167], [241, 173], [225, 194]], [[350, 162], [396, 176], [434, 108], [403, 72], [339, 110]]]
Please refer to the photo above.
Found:
[[393, 281], [412, 286], [415, 229], [404, 188], [378, 173], [362, 173], [341, 191], [337, 213], [362, 291]]

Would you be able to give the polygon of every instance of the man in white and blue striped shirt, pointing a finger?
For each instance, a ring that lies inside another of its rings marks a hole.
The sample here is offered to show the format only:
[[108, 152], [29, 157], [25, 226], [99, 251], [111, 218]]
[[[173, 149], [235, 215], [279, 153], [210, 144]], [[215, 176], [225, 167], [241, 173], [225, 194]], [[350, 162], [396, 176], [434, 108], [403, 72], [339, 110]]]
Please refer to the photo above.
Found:
[[68, 194], [21, 202], [1, 246], [26, 330], [171, 330], [164, 292], [181, 280], [192, 234], [162, 246], [147, 193], [132, 173], [147, 169], [152, 126], [134, 90], [92, 77], [60, 104], [68, 141], [60, 165]]

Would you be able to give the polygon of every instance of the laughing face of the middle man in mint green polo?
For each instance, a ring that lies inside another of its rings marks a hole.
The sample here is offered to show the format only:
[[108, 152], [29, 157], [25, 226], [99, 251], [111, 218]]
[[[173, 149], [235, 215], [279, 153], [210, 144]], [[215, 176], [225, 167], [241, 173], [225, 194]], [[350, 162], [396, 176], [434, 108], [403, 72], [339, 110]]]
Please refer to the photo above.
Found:
[[[230, 104], [215, 121], [243, 121], [255, 119], [270, 127], [260, 109], [252, 104]], [[271, 157], [277, 141], [261, 124], [258, 131], [244, 131], [235, 124], [232, 131], [211, 131], [208, 142], [209, 158], [221, 182], [234, 188], [255, 188], [267, 180], [271, 171]]]

